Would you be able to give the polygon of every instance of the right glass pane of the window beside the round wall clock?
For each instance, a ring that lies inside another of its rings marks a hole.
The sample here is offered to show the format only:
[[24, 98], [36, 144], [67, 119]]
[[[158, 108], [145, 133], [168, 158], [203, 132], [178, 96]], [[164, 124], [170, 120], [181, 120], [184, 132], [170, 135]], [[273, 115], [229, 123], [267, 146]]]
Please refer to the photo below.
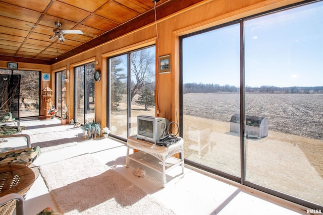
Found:
[[86, 70], [86, 97], [85, 97], [85, 121], [95, 119], [94, 115], [94, 63], [85, 65]]

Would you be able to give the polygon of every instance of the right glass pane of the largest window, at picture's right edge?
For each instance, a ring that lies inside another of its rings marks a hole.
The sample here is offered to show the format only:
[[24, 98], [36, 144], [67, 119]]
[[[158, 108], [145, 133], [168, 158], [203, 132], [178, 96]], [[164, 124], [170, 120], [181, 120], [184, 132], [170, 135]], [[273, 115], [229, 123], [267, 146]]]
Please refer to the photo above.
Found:
[[323, 2], [245, 22], [246, 178], [323, 205]]

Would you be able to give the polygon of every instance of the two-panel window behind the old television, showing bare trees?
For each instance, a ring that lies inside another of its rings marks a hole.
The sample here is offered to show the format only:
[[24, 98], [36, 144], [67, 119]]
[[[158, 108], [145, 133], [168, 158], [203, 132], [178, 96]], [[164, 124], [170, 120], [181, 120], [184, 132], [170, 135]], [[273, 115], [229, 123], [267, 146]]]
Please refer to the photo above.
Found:
[[135, 135], [137, 116], [155, 116], [155, 47], [107, 59], [111, 134], [122, 139]]

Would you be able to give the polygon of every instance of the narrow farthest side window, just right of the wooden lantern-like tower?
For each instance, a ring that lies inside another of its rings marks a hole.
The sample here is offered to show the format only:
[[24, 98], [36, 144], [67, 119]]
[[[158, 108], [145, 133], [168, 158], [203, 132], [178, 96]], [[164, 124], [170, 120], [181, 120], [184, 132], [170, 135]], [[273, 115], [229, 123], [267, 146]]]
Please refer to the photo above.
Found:
[[66, 70], [59, 71], [55, 74], [56, 78], [56, 109], [58, 117], [63, 117], [66, 108]]

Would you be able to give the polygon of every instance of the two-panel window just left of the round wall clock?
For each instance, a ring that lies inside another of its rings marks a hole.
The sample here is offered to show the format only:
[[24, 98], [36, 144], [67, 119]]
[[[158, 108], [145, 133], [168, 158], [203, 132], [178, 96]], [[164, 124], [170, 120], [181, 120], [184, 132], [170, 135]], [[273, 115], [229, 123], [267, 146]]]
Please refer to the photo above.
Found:
[[81, 124], [94, 120], [94, 62], [75, 69], [75, 120]]

